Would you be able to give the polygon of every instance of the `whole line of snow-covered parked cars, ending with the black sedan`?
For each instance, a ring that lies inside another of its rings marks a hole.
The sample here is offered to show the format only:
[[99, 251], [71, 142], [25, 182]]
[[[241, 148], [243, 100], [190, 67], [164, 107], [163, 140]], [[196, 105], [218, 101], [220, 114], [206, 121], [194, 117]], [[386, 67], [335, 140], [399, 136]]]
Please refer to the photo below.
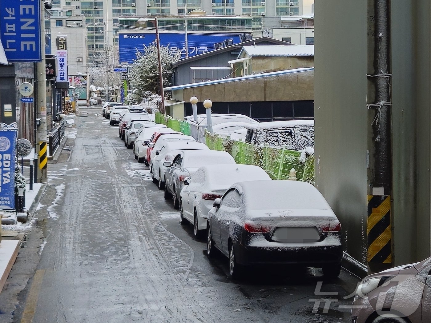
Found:
[[339, 275], [341, 225], [314, 186], [272, 180], [259, 166], [237, 165], [228, 152], [131, 110], [110, 111], [114, 120], [119, 115], [119, 137], [149, 167], [153, 183], [178, 209], [180, 224], [192, 224], [194, 236], [205, 238], [206, 254], [228, 258], [231, 277], [256, 264], [302, 264]]

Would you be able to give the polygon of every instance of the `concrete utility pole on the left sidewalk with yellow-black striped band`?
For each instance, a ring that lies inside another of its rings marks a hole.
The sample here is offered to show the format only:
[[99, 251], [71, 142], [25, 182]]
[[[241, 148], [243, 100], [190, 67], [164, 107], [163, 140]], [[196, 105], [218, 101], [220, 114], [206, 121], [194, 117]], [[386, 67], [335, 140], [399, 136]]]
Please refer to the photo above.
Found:
[[[41, 3], [41, 26], [45, 24], [45, 6]], [[39, 167], [37, 168], [37, 178], [39, 183], [48, 181], [48, 152], [47, 152], [47, 81], [45, 70], [45, 29], [41, 28], [41, 62], [36, 63], [36, 91], [37, 102], [37, 118], [41, 120], [41, 124], [37, 126], [35, 138], [35, 152], [39, 155]], [[36, 120], [35, 120], [36, 122]]]

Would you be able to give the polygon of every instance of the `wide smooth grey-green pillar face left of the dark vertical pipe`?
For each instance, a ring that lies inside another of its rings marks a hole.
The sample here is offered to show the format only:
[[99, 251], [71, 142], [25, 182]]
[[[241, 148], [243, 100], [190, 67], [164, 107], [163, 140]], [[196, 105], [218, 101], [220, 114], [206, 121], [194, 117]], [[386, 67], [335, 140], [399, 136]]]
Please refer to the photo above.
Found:
[[315, 183], [341, 221], [347, 251], [364, 262], [366, 18], [364, 1], [315, 2]]

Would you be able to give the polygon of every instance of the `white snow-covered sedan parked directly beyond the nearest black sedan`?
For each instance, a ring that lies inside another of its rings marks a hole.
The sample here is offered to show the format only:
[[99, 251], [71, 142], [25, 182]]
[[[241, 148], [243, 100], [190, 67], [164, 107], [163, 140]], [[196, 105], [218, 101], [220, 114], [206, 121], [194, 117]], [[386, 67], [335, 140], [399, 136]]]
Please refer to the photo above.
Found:
[[192, 223], [194, 235], [200, 237], [206, 230], [206, 216], [212, 208], [212, 202], [222, 197], [233, 183], [270, 179], [262, 168], [254, 165], [201, 167], [191, 178], [184, 180], [185, 187], [180, 194], [180, 222]]

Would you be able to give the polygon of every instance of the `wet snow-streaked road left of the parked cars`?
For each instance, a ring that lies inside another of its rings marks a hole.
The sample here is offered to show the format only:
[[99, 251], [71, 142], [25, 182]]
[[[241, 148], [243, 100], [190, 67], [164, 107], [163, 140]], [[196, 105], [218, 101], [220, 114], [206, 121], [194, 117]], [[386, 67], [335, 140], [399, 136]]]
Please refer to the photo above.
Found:
[[[350, 322], [339, 308], [352, 301], [343, 299], [356, 287], [350, 273], [323, 283], [329, 296], [315, 295], [322, 274], [311, 268], [264, 267], [229, 280], [227, 260], [203, 255], [205, 243], [179, 225], [118, 127], [96, 116], [101, 109], [80, 110], [69, 160], [49, 165], [37, 213], [47, 214], [37, 223], [48, 228], [46, 244], [13, 322]], [[340, 301], [312, 314], [310, 298]]]

